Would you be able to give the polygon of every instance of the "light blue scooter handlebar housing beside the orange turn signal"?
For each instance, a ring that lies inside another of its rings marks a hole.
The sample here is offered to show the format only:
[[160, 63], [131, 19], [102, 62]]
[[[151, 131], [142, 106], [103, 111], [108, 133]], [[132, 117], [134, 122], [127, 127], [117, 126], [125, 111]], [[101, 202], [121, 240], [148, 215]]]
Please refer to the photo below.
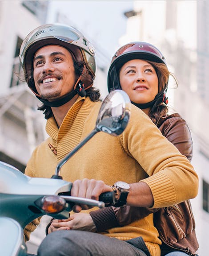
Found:
[[[15, 219], [24, 228], [32, 220], [46, 214], [34, 204], [37, 199], [68, 192], [71, 187], [71, 182], [62, 179], [28, 177], [12, 165], [0, 161], [0, 217]], [[64, 219], [68, 215], [68, 211], [62, 211], [53, 217]]]

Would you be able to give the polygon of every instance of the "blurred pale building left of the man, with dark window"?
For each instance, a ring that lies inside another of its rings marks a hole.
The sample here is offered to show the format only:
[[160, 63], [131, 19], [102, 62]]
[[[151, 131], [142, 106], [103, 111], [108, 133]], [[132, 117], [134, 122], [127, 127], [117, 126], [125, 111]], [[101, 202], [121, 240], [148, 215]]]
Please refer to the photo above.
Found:
[[38, 100], [25, 83], [19, 51], [30, 30], [44, 22], [48, 1], [0, 1], [0, 161], [24, 171], [32, 150], [44, 140]]

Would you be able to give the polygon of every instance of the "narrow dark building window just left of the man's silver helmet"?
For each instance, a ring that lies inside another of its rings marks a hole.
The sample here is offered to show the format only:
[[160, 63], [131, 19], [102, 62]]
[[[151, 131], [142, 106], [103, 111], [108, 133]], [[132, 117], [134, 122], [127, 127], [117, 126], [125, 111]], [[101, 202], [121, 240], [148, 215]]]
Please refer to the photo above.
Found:
[[23, 78], [23, 69], [20, 65], [20, 60], [19, 60], [19, 52], [20, 52], [20, 46], [22, 44], [22, 39], [20, 37], [17, 37], [17, 43], [16, 43], [16, 50], [15, 50], [15, 56], [14, 56], [14, 63], [12, 66], [12, 77], [11, 77], [11, 82], [10, 82], [10, 87], [14, 87], [19, 85], [21, 81], [19, 78]]

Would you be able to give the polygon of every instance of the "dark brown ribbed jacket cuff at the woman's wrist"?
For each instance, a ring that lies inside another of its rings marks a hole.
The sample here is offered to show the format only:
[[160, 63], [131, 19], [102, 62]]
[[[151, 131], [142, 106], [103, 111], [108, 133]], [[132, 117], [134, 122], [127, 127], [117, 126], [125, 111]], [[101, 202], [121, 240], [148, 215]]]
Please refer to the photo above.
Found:
[[93, 219], [97, 232], [102, 232], [111, 227], [118, 226], [115, 213], [111, 206], [96, 211], [91, 211], [89, 214]]

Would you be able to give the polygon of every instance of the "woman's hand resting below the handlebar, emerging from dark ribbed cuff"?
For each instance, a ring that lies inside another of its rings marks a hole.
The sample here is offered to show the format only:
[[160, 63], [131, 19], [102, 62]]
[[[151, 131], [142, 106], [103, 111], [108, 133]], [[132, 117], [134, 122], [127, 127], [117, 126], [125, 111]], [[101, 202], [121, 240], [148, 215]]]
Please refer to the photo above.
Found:
[[75, 213], [68, 219], [54, 219], [48, 228], [48, 234], [57, 230], [83, 230], [96, 232], [96, 226], [88, 213]]

